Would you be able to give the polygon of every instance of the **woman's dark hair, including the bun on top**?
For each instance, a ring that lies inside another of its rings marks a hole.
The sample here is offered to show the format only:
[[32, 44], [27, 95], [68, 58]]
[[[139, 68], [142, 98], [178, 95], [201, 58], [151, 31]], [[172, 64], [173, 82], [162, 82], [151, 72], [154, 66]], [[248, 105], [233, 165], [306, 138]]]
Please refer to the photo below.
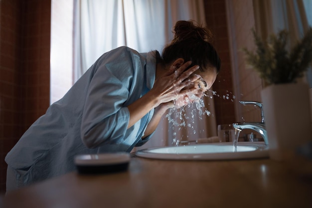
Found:
[[220, 71], [221, 60], [210, 43], [212, 33], [206, 27], [198, 26], [193, 20], [177, 21], [174, 26], [174, 38], [163, 50], [161, 62], [168, 64], [177, 58], [192, 61], [193, 65], [199, 65], [200, 70], [207, 67], [215, 67]]

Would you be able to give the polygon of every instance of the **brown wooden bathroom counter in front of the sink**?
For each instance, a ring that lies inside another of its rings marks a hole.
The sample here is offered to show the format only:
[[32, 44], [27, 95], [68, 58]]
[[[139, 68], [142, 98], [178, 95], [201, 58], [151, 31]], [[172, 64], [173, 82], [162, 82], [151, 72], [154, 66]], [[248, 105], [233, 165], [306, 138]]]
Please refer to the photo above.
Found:
[[73, 172], [10, 192], [0, 203], [2, 198], [3, 208], [312, 208], [312, 175], [294, 171], [296, 165], [134, 157], [127, 172]]

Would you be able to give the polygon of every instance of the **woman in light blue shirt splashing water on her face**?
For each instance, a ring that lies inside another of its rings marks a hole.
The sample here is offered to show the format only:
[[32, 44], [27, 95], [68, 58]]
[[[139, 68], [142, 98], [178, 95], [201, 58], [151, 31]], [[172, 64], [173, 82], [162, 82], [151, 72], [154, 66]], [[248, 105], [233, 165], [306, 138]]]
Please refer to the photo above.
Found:
[[220, 69], [210, 32], [192, 21], [174, 31], [161, 56], [128, 47], [103, 54], [7, 154], [7, 191], [74, 171], [78, 154], [130, 152], [167, 109], [200, 99]]

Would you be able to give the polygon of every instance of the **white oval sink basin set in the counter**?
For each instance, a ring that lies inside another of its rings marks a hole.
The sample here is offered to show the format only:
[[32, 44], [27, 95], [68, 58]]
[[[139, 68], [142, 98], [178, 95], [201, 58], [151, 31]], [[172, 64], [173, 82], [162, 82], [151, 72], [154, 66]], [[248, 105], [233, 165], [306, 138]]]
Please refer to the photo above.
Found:
[[232, 142], [222, 142], [149, 148], [136, 152], [136, 155], [162, 160], [237, 160], [268, 158], [268, 150], [264, 142], [239, 142], [236, 149]]

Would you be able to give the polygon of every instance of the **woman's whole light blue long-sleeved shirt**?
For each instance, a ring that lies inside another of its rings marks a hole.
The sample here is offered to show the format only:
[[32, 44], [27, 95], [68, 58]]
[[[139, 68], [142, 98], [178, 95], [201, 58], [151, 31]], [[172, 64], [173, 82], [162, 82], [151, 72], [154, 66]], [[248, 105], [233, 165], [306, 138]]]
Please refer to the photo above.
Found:
[[78, 154], [130, 152], [148, 141], [141, 138], [154, 109], [127, 129], [127, 106], [153, 87], [155, 53], [123, 46], [103, 54], [6, 155], [16, 177], [41, 181], [75, 170]]

